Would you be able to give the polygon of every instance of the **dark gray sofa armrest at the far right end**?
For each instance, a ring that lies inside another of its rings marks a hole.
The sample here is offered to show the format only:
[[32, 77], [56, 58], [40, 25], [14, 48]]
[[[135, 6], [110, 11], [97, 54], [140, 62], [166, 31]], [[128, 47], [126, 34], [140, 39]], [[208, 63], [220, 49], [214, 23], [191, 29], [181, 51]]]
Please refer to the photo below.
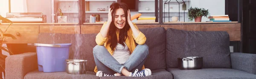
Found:
[[256, 54], [231, 53], [232, 68], [256, 74]]

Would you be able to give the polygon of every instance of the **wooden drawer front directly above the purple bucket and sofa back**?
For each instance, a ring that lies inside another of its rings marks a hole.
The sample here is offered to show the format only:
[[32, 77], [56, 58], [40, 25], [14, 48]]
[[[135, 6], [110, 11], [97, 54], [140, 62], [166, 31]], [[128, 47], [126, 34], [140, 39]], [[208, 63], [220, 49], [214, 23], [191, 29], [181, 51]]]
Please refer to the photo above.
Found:
[[80, 34], [80, 25], [40, 25], [40, 33]]

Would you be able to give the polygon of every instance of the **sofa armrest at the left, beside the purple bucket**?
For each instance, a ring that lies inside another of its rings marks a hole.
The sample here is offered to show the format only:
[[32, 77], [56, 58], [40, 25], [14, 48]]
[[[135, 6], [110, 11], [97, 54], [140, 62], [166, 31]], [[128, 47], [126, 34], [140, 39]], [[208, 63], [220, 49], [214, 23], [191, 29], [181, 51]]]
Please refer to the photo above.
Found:
[[35, 52], [6, 57], [6, 79], [23, 79], [26, 73], [38, 68]]

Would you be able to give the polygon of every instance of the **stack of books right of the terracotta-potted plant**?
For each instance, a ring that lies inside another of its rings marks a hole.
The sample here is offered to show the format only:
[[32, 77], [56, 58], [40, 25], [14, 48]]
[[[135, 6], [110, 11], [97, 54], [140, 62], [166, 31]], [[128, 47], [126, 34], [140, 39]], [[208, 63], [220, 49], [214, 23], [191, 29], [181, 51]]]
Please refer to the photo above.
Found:
[[231, 22], [228, 15], [211, 15], [208, 19], [207, 22]]

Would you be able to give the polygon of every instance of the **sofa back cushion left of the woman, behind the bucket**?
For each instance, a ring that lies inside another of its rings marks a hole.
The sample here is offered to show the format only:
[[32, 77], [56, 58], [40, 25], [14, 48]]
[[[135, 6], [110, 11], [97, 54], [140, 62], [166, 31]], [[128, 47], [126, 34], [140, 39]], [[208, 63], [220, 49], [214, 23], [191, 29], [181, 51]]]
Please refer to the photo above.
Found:
[[97, 45], [95, 39], [96, 34], [40, 33], [37, 43], [71, 43], [69, 59], [86, 59], [87, 70], [93, 71], [96, 66], [93, 58], [93, 47]]

